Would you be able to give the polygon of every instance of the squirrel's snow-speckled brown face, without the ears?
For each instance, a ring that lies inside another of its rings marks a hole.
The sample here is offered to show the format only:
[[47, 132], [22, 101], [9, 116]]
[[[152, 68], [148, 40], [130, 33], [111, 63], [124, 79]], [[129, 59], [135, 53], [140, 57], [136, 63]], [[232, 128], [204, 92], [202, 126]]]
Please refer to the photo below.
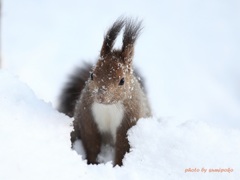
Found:
[[122, 56], [112, 52], [98, 60], [90, 74], [89, 88], [95, 102], [115, 104], [128, 98], [131, 91], [132, 67]]

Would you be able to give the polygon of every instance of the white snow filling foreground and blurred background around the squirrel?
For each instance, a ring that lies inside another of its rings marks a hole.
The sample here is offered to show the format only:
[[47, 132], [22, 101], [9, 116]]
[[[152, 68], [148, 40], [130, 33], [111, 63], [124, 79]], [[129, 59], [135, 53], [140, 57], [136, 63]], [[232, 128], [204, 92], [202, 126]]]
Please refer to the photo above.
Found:
[[[3, 0], [0, 179], [238, 179], [239, 9], [238, 0]], [[134, 61], [154, 117], [129, 132], [123, 167], [88, 166], [70, 149], [72, 120], [57, 97], [122, 14], [144, 20]]]

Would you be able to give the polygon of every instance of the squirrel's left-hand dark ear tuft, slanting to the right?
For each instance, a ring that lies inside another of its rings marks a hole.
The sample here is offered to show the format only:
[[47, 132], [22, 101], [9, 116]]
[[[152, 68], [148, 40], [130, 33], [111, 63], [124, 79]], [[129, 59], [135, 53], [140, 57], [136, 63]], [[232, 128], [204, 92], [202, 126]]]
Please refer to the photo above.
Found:
[[117, 38], [117, 35], [119, 34], [123, 26], [124, 26], [124, 19], [120, 17], [109, 28], [103, 40], [103, 45], [100, 53], [101, 57], [104, 57], [105, 55], [111, 52], [114, 46], [115, 40]]

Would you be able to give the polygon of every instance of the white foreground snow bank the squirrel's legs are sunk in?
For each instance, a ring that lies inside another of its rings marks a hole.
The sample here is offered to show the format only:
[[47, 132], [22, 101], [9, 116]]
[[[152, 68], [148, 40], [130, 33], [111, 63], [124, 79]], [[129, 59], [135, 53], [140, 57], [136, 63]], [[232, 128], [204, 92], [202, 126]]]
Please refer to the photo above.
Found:
[[110, 161], [87, 165], [71, 150], [71, 122], [16, 77], [0, 71], [0, 179], [219, 180], [240, 176], [239, 130], [203, 122], [141, 119], [129, 130], [132, 148], [124, 165], [113, 168]]

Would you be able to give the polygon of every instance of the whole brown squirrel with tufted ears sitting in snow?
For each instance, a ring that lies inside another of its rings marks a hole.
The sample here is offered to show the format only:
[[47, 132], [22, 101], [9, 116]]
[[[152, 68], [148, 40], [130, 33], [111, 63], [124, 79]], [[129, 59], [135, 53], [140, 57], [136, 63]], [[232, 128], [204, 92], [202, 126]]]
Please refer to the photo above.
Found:
[[[113, 49], [123, 27], [122, 48]], [[132, 67], [141, 29], [141, 22], [117, 19], [104, 37], [96, 65], [77, 69], [60, 97], [59, 110], [74, 117], [71, 142], [82, 140], [88, 164], [97, 164], [101, 145], [110, 144], [115, 150], [114, 166], [121, 166], [130, 149], [127, 131], [139, 118], [151, 116], [143, 84]]]

